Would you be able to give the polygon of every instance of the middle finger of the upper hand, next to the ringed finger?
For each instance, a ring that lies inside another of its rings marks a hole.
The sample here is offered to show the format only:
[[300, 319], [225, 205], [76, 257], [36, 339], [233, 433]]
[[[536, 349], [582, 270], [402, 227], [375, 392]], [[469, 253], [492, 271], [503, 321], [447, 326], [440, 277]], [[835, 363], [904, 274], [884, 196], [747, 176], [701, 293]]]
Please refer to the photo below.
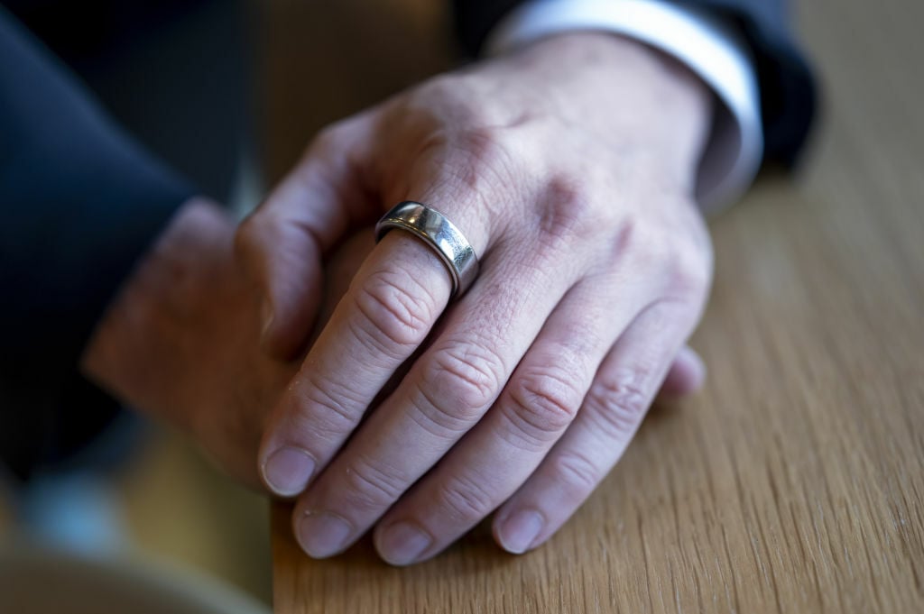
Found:
[[[311, 556], [334, 554], [362, 535], [503, 390], [573, 283], [553, 251], [519, 262], [516, 253], [522, 249], [492, 255], [494, 266], [454, 307], [439, 338], [300, 498], [293, 520]], [[340, 527], [336, 539], [331, 519]]]

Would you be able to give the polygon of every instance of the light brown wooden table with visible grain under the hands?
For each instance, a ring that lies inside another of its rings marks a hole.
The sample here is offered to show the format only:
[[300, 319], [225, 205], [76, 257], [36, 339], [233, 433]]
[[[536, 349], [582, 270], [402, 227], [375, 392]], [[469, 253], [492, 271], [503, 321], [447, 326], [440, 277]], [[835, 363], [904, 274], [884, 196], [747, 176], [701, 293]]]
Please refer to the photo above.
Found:
[[705, 391], [523, 557], [312, 561], [276, 509], [279, 612], [924, 612], [924, 3], [796, 4], [827, 105], [806, 173], [712, 225]]

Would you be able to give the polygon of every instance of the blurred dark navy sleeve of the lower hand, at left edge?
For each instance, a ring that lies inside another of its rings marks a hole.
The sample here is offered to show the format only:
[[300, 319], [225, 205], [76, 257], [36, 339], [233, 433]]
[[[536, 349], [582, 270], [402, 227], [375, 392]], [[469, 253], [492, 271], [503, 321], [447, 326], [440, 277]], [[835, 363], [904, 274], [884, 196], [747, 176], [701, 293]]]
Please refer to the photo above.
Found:
[[0, 454], [15, 473], [98, 428], [81, 349], [192, 193], [0, 8]]

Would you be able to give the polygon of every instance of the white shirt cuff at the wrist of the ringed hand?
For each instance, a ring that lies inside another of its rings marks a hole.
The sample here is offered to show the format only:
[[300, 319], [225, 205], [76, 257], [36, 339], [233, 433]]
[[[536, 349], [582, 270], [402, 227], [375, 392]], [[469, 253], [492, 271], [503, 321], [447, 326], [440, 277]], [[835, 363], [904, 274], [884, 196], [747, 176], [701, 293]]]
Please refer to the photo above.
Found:
[[492, 31], [489, 54], [502, 54], [567, 30], [604, 30], [650, 44], [686, 64], [720, 104], [699, 163], [697, 198], [705, 211], [732, 204], [760, 168], [760, 95], [748, 47], [711, 15], [663, 0], [531, 0]]

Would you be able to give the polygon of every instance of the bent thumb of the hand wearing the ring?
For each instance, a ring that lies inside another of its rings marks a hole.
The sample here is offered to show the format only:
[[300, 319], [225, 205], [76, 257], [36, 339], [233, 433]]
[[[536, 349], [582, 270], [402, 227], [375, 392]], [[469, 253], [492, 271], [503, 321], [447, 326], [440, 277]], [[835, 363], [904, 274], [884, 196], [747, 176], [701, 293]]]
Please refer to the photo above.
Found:
[[322, 296], [322, 256], [347, 228], [374, 216], [363, 190], [361, 117], [322, 133], [237, 231], [236, 250], [262, 297], [263, 349], [290, 359], [310, 333]]

